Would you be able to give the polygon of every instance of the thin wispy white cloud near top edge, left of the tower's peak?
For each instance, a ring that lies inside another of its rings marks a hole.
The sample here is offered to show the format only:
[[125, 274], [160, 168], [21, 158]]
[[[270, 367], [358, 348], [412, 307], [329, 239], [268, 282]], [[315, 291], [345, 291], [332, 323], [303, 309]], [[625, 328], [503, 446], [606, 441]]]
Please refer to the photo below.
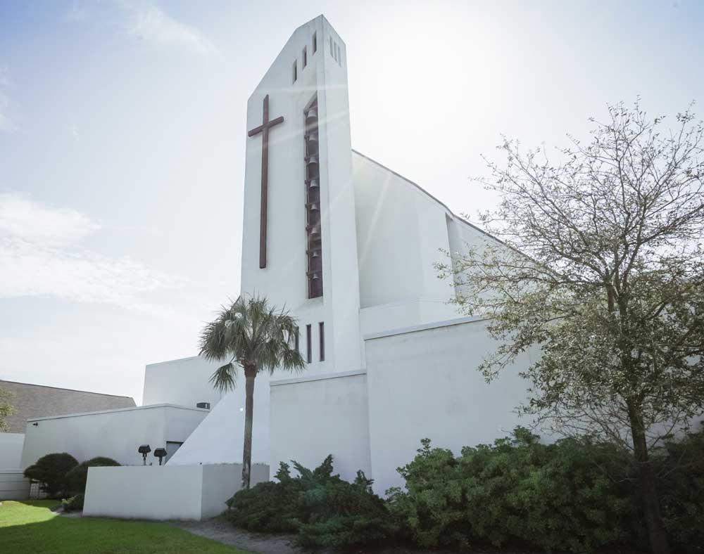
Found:
[[196, 27], [175, 20], [158, 6], [140, 4], [128, 9], [127, 32], [132, 37], [155, 46], [182, 46], [203, 55], [217, 52]]

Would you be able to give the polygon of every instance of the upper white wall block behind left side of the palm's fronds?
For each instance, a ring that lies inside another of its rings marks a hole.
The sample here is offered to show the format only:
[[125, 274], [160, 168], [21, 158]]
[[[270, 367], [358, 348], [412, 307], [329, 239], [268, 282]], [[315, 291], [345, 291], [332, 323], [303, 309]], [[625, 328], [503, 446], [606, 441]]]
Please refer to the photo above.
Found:
[[195, 408], [199, 402], [210, 402], [214, 408], [222, 393], [208, 381], [222, 363], [200, 356], [150, 363], [144, 369], [142, 405], [176, 404]]

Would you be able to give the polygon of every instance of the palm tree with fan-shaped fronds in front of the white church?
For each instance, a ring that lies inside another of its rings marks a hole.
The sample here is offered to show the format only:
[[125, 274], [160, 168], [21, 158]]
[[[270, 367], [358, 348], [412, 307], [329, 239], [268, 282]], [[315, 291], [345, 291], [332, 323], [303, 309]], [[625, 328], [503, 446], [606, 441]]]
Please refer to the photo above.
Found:
[[252, 463], [254, 379], [262, 371], [276, 368], [301, 371], [306, 367], [298, 349], [291, 347], [298, 333], [296, 319], [287, 311], [270, 306], [265, 297], [239, 297], [222, 307], [218, 318], [201, 333], [201, 356], [207, 360], [230, 359], [210, 377], [221, 391], [234, 389], [237, 365], [244, 369], [245, 413], [242, 449], [242, 488], [249, 489]]

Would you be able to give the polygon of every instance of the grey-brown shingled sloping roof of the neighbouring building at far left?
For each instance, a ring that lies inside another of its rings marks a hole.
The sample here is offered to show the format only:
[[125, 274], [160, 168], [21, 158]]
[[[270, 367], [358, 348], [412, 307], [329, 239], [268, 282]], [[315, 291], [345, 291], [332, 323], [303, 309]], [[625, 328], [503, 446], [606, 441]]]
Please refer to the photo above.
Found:
[[11, 433], [25, 432], [27, 420], [32, 418], [137, 406], [132, 397], [32, 385], [25, 382], [0, 380], [0, 388], [12, 395], [10, 404], [15, 408], [15, 413], [6, 418]]

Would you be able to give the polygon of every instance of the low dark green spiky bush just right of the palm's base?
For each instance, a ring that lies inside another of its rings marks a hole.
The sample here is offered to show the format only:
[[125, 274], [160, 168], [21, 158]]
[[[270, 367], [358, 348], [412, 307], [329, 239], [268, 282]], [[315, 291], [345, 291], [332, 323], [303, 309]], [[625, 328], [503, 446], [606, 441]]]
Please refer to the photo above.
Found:
[[225, 517], [250, 531], [296, 532], [296, 543], [305, 547], [370, 544], [393, 534], [386, 505], [363, 472], [353, 483], [332, 475], [332, 456], [312, 471], [296, 462], [294, 468], [298, 476], [291, 477], [282, 463], [278, 482], [237, 492]]

